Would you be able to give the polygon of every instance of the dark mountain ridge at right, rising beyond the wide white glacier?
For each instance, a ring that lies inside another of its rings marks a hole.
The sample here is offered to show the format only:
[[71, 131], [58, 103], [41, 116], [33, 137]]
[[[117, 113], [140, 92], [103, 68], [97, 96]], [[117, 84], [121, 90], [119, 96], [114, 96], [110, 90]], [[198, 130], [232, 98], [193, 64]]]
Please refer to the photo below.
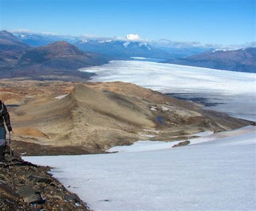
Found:
[[234, 51], [215, 50], [163, 62], [177, 65], [224, 69], [227, 71], [256, 73], [256, 48], [249, 47]]

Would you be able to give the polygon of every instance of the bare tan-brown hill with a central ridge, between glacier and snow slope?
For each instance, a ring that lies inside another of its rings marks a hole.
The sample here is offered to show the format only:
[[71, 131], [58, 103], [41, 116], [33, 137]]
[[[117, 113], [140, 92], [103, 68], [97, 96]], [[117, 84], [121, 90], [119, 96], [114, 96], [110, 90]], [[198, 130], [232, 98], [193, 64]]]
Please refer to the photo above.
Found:
[[[28, 154], [97, 153], [137, 140], [171, 141], [250, 124], [131, 83], [76, 83], [73, 88], [70, 82], [5, 81], [5, 86], [0, 96], [15, 92], [5, 102], [19, 105], [10, 108], [15, 139], [23, 141], [17, 147]], [[38, 151], [25, 149], [25, 142]]]

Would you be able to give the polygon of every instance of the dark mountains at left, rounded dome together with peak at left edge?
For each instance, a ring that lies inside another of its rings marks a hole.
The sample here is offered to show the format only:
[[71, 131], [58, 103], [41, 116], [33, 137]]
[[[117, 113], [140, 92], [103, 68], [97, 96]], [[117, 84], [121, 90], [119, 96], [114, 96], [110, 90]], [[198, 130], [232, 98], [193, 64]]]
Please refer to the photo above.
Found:
[[93, 75], [78, 68], [102, 65], [111, 58], [82, 52], [66, 41], [30, 47], [13, 34], [0, 32], [0, 78], [83, 80]]

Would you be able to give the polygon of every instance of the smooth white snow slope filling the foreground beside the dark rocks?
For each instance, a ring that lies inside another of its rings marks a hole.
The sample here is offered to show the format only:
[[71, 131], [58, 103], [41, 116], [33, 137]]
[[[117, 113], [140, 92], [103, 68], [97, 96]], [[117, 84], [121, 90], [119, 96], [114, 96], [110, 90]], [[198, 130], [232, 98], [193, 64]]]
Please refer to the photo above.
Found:
[[122, 153], [23, 159], [55, 167], [96, 211], [255, 210], [255, 135], [247, 126], [176, 148], [139, 142]]

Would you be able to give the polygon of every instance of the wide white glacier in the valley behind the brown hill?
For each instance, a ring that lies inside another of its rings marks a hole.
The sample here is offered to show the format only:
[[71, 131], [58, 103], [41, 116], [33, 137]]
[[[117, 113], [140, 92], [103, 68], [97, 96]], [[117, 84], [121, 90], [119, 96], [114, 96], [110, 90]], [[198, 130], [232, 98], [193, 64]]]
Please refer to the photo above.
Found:
[[224, 103], [210, 107], [212, 110], [256, 120], [255, 73], [148, 61], [111, 61], [80, 71], [96, 73], [91, 81], [123, 81], [162, 93], [191, 93], [196, 97], [208, 97], [211, 102]]

